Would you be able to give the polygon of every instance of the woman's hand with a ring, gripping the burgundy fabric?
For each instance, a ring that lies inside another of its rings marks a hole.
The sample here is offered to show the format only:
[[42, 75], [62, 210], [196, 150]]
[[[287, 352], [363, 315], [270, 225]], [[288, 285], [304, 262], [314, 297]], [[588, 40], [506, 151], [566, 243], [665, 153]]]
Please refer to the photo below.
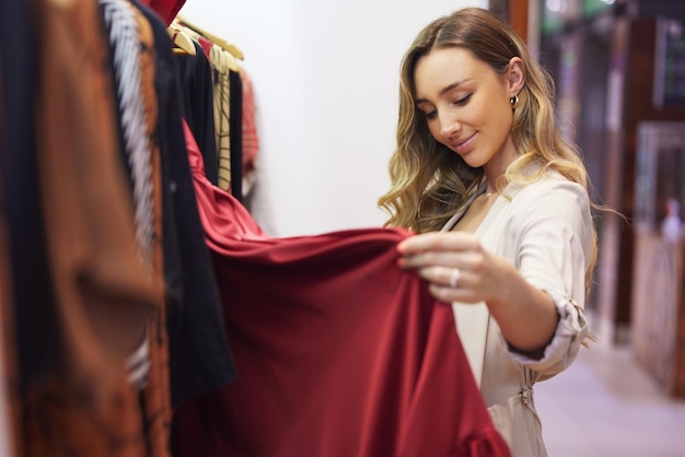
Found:
[[488, 253], [473, 234], [425, 233], [403, 241], [397, 250], [399, 267], [416, 269], [443, 303], [497, 302], [507, 296], [502, 273], [511, 266]]

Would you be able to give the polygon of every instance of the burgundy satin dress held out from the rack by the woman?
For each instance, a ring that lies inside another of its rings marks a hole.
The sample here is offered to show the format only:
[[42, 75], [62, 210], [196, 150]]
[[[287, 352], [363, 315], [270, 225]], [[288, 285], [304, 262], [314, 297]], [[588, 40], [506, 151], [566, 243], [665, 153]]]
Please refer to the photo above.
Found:
[[270, 238], [187, 138], [239, 377], [181, 406], [178, 456], [509, 456], [407, 231]]

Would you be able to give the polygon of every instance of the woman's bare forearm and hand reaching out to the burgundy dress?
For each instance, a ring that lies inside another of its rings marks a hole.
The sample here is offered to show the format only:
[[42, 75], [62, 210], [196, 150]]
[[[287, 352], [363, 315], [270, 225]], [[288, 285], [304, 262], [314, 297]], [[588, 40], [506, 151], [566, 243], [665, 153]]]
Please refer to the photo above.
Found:
[[[398, 245], [399, 266], [414, 268], [431, 294], [444, 303], [485, 302], [504, 339], [539, 358], [552, 340], [558, 313], [552, 297], [527, 282], [507, 260], [487, 251], [478, 238], [460, 232], [427, 233]], [[455, 269], [456, 284], [451, 284]]]

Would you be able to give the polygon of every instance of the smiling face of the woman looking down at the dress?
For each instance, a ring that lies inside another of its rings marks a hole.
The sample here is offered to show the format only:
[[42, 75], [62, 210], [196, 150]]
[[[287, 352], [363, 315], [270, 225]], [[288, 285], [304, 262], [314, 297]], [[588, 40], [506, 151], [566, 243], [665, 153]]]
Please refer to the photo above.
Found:
[[[512, 66], [512, 62], [515, 65]], [[434, 49], [419, 58], [414, 80], [416, 105], [436, 140], [460, 154], [472, 167], [494, 162], [506, 165], [515, 157], [511, 141], [510, 98], [520, 87], [462, 48]], [[515, 67], [515, 68], [514, 68]]]

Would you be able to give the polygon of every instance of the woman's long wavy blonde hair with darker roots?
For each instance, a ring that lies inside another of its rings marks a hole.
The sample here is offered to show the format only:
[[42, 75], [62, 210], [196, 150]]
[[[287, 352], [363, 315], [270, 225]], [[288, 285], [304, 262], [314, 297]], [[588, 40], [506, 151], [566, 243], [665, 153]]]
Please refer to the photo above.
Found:
[[[390, 213], [386, 226], [418, 233], [440, 230], [478, 190], [483, 168], [463, 159], [431, 136], [426, 117], [415, 103], [414, 73], [418, 60], [433, 49], [467, 49], [506, 78], [509, 61], [521, 58], [525, 84], [513, 112], [512, 140], [518, 157], [499, 178], [499, 190], [509, 184], [530, 184], [554, 169], [588, 189], [588, 172], [576, 147], [565, 140], [555, 119], [554, 81], [533, 58], [514, 30], [495, 13], [466, 8], [428, 24], [402, 61], [396, 149], [390, 161], [391, 189], [379, 207]], [[534, 175], [524, 173], [536, 163]], [[596, 234], [595, 234], [596, 238]], [[596, 241], [591, 269], [596, 258]], [[589, 285], [589, 282], [588, 282]]]

